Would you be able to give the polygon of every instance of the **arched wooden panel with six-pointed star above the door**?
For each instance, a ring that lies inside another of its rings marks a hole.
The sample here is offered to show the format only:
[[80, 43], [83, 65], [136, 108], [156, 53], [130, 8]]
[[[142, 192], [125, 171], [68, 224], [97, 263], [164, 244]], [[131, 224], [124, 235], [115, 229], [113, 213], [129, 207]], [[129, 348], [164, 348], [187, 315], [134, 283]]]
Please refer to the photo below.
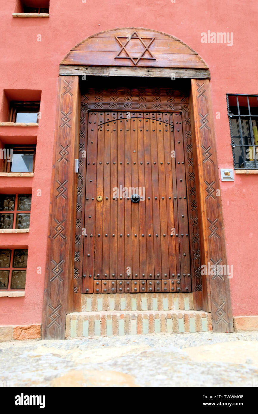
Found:
[[72, 48], [61, 65], [198, 69], [210, 77], [203, 59], [181, 40], [142, 28], [94, 34]]

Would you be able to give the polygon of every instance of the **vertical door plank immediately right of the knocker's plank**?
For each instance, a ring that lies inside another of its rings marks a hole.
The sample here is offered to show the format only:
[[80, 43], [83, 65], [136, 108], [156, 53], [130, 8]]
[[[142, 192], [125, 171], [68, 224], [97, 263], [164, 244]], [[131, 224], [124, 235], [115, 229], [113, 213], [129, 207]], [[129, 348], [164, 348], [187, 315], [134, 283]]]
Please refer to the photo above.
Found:
[[144, 129], [145, 119], [143, 113], [137, 114], [138, 132], [138, 171], [139, 171], [139, 195], [143, 197], [139, 201], [139, 247], [140, 247], [140, 279], [147, 278], [147, 249], [146, 249], [146, 200], [145, 200], [145, 168], [144, 168]]

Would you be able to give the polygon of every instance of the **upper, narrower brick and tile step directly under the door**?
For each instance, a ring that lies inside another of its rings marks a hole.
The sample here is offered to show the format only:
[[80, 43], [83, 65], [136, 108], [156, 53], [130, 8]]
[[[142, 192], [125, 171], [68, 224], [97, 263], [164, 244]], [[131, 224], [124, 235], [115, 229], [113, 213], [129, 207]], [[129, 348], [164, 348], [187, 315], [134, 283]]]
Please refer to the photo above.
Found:
[[82, 294], [82, 311], [191, 310], [192, 293]]

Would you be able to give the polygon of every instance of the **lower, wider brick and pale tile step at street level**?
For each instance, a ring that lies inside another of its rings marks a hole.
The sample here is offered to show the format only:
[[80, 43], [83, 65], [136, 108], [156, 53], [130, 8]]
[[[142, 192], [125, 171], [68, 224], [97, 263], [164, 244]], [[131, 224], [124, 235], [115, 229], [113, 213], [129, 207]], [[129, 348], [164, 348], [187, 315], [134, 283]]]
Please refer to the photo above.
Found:
[[211, 313], [202, 310], [88, 311], [66, 315], [65, 338], [211, 330]]

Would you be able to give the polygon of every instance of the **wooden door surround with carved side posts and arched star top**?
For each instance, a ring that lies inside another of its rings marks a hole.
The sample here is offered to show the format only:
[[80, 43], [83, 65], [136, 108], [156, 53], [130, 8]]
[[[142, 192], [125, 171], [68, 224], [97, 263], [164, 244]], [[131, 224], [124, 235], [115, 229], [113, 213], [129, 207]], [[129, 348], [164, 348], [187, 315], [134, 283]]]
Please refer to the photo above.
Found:
[[[79, 250], [74, 253], [74, 243], [80, 243], [82, 220], [80, 206], [78, 209], [75, 159], [79, 158], [80, 144], [79, 80], [83, 77], [87, 79], [87, 75], [191, 79], [190, 121], [200, 263], [226, 264], [221, 201], [213, 194], [215, 189], [219, 189], [219, 175], [207, 65], [183, 42], [157, 31], [126, 28], [91, 36], [75, 46], [60, 65], [42, 326], [42, 337], [46, 339], [64, 338], [65, 315], [74, 310], [80, 311], [82, 271], [75, 263], [81, 260], [81, 253]], [[98, 99], [88, 106], [96, 113], [99, 112]], [[101, 99], [102, 105], [105, 101], [108, 105], [107, 96]], [[144, 99], [148, 102], [148, 96]], [[166, 104], [166, 96], [162, 97], [157, 110], [161, 110], [162, 103]], [[106, 108], [112, 109], [111, 106]], [[180, 102], [175, 109], [182, 113]], [[193, 297], [196, 309], [212, 312], [214, 331], [233, 330], [227, 276], [203, 276], [202, 291], [200, 285], [195, 286]]]

